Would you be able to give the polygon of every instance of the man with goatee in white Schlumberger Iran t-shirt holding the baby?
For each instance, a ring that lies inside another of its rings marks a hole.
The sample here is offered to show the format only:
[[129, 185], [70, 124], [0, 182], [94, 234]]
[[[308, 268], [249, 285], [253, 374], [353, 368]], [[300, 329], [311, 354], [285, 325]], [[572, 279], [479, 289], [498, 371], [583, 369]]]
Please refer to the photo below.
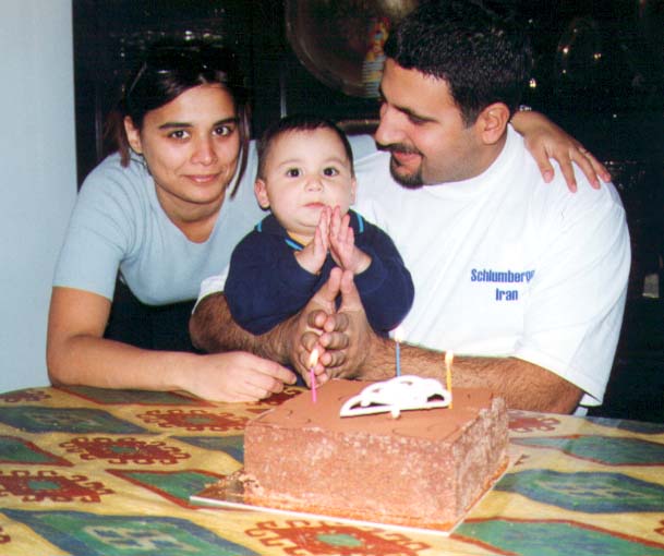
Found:
[[[442, 377], [440, 351], [454, 350], [454, 385], [488, 387], [509, 407], [601, 403], [629, 273], [625, 214], [611, 184], [579, 174], [572, 195], [560, 172], [546, 184], [510, 128], [530, 70], [523, 33], [472, 2], [428, 2], [385, 51], [385, 152], [358, 160], [357, 208], [413, 276], [402, 372]], [[297, 352], [302, 370], [317, 346], [330, 376], [394, 375], [394, 342], [371, 331], [351, 276], [333, 275], [303, 313], [265, 338], [268, 353]]]

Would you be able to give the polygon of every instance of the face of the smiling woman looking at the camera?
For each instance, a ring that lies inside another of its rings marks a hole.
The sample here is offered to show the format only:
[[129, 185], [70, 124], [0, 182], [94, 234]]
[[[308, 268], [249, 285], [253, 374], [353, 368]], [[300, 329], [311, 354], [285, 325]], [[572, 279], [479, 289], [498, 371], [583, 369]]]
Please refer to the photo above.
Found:
[[234, 102], [220, 85], [185, 90], [147, 112], [141, 130], [131, 118], [125, 118], [124, 126], [171, 218], [203, 218], [219, 209], [240, 154]]

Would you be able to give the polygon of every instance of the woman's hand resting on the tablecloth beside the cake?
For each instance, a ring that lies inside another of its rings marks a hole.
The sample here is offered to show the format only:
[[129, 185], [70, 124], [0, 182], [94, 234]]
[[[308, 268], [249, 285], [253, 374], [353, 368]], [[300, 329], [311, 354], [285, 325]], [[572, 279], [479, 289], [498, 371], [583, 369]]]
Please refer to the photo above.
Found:
[[[267, 359], [231, 351], [198, 355], [193, 368], [182, 373], [180, 387], [214, 401], [256, 401], [294, 384], [295, 375]], [[180, 382], [178, 380], [178, 382]]]

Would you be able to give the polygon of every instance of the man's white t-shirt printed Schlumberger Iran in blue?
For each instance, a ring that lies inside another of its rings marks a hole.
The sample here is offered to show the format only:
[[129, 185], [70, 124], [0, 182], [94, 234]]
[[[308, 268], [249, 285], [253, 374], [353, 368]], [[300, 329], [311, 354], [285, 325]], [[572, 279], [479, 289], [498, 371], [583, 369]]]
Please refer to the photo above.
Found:
[[[355, 164], [353, 208], [395, 241], [415, 286], [409, 343], [515, 356], [601, 403], [620, 330], [630, 265], [625, 211], [612, 184], [577, 172], [545, 183], [511, 128], [496, 161], [463, 182], [406, 189], [389, 154]], [[440, 366], [444, 362], [440, 359]]]

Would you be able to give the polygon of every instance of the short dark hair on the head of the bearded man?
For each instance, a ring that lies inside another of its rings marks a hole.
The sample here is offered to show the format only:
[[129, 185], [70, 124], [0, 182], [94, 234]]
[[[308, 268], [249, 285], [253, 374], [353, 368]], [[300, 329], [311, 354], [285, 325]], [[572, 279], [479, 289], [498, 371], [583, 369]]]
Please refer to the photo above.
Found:
[[390, 33], [385, 53], [444, 80], [467, 125], [493, 102], [514, 112], [532, 69], [526, 28], [474, 0], [424, 1]]

